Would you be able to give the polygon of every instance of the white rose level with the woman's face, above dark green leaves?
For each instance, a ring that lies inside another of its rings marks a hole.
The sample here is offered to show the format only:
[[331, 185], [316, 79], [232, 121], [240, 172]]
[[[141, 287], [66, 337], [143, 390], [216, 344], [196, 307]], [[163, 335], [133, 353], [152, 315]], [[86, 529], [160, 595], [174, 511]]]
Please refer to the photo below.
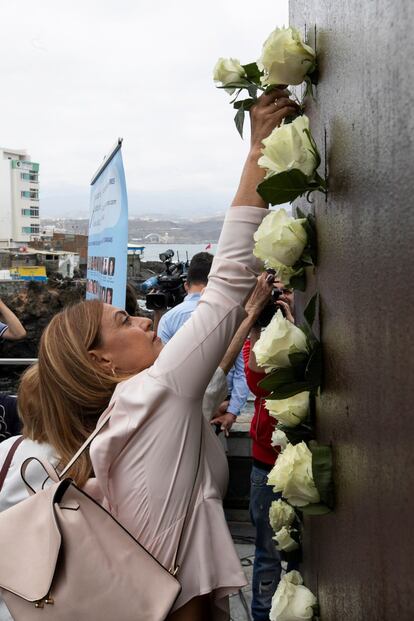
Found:
[[267, 372], [290, 366], [289, 354], [307, 352], [306, 336], [277, 311], [253, 347], [257, 364]]

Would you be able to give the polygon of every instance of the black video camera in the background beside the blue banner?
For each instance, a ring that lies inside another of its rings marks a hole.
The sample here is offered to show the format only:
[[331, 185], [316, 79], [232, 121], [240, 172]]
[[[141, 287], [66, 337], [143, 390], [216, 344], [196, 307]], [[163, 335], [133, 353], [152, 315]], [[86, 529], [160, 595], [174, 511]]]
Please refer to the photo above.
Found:
[[186, 296], [184, 283], [187, 278], [187, 261], [173, 263], [174, 250], [161, 252], [160, 261], [165, 269], [158, 276], [152, 276], [141, 285], [141, 291], [147, 293], [145, 304], [148, 310], [165, 310], [180, 304]]

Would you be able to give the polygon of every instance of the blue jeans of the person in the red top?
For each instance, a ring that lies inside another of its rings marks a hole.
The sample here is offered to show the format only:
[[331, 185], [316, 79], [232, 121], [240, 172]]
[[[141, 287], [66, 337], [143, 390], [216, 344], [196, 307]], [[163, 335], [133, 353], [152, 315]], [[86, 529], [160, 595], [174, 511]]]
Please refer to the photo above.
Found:
[[280, 580], [280, 556], [272, 537], [274, 532], [269, 524], [269, 508], [275, 494], [267, 485], [267, 472], [257, 466], [252, 467], [250, 476], [250, 519], [256, 527], [256, 549], [253, 564], [253, 621], [269, 621], [272, 597]]

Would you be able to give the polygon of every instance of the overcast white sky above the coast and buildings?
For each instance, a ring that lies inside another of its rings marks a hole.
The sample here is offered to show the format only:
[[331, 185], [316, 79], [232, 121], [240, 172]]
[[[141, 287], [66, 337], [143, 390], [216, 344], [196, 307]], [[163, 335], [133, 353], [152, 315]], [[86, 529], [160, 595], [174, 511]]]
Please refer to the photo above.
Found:
[[229, 200], [247, 141], [212, 67], [219, 56], [256, 60], [287, 21], [287, 0], [4, 1], [1, 146], [40, 162], [41, 205], [57, 215], [71, 193], [74, 211], [87, 208], [90, 178], [118, 136], [130, 191], [214, 189]]

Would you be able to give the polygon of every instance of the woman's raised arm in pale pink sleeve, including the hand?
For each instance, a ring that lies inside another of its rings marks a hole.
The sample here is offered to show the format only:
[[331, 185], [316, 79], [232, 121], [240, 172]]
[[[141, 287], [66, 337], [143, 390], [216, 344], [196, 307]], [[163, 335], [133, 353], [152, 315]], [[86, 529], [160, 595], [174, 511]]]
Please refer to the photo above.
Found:
[[177, 394], [201, 398], [239, 324], [243, 303], [261, 264], [253, 256], [253, 235], [266, 215], [256, 192], [264, 171], [257, 164], [263, 138], [296, 111], [286, 91], [262, 95], [251, 110], [251, 147], [240, 185], [220, 235], [207, 288], [191, 318], [167, 343], [149, 375]]

